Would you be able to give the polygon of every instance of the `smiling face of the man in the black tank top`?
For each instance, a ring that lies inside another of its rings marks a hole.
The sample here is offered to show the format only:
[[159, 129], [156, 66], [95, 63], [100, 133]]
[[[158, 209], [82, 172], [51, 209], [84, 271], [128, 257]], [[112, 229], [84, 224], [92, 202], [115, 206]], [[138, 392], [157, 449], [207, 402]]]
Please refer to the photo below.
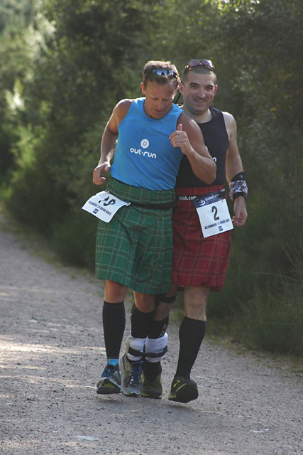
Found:
[[214, 100], [218, 88], [216, 75], [212, 71], [206, 74], [189, 71], [187, 78], [180, 84], [184, 107], [194, 115], [202, 115]]

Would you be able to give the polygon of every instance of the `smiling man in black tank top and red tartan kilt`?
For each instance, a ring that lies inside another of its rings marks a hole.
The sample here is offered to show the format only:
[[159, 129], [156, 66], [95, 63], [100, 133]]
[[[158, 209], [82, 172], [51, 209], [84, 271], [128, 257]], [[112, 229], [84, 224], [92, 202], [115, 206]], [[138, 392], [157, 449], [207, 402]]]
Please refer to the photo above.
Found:
[[[216, 180], [209, 185], [194, 176], [186, 156], [182, 158], [176, 186], [179, 200], [173, 214], [172, 289], [167, 296], [159, 296], [155, 316], [159, 321], [165, 321], [167, 326], [171, 307], [169, 301], [173, 301], [178, 287], [184, 289], [180, 352], [169, 395], [169, 400], [184, 403], [198, 397], [197, 384], [190, 378], [190, 373], [204, 338], [209, 291], [219, 291], [224, 285], [231, 246], [230, 230], [203, 237], [193, 200], [209, 193], [218, 193], [225, 198], [227, 180], [229, 196], [233, 200], [233, 226], [243, 226], [247, 218], [247, 186], [238, 151], [236, 121], [228, 112], [211, 107], [216, 90], [216, 73], [210, 60], [191, 60], [187, 63], [180, 85], [184, 102], [182, 108], [202, 130], [217, 171]], [[152, 378], [152, 370], [147, 367], [146, 371]], [[143, 387], [143, 396], [153, 397], [153, 380], [150, 378], [145, 373], [147, 387], [146, 390]]]

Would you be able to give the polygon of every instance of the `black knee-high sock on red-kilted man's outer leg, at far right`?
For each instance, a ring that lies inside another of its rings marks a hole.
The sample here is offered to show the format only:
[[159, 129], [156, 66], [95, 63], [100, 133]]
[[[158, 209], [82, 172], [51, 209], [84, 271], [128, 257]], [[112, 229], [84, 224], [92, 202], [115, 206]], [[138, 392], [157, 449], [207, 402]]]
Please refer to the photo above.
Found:
[[179, 331], [180, 350], [176, 376], [190, 377], [192, 366], [204, 338], [205, 329], [205, 321], [197, 321], [197, 319], [184, 316]]

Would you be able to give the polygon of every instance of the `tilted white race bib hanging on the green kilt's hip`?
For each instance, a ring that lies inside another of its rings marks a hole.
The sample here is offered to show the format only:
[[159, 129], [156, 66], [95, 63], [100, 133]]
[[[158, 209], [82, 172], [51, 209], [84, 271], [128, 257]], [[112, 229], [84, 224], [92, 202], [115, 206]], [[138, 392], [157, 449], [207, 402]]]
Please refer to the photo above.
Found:
[[108, 193], [108, 191], [101, 191], [89, 198], [82, 208], [92, 213], [99, 220], [109, 223], [111, 218], [113, 218], [115, 213], [123, 205], [130, 205], [130, 202], [116, 198], [116, 196]]

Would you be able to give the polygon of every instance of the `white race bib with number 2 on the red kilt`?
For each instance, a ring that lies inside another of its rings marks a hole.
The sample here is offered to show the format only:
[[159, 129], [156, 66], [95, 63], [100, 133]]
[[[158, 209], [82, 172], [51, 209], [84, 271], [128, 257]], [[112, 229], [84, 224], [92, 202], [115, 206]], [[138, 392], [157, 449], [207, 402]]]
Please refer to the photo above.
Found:
[[199, 215], [203, 237], [210, 237], [233, 229], [226, 199], [222, 198], [219, 193], [198, 196], [194, 200], [194, 205]]

